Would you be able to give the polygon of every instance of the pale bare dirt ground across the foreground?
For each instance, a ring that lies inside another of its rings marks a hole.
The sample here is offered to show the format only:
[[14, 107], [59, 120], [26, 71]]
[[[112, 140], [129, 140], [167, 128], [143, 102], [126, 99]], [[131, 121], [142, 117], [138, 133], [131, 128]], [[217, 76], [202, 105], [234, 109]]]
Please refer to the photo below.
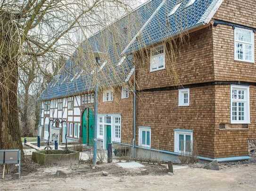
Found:
[[[29, 162], [27, 162], [29, 164]], [[143, 168], [124, 169], [117, 164], [101, 164], [92, 170], [87, 163], [71, 167], [28, 165], [20, 180], [15, 167], [0, 179], [0, 191], [255, 191], [256, 164], [225, 164], [219, 171], [199, 166], [176, 169], [168, 175], [164, 166], [141, 163]], [[65, 176], [55, 176], [62, 170]], [[109, 173], [102, 176], [102, 171]], [[0, 169], [2, 172], [2, 169]]]

